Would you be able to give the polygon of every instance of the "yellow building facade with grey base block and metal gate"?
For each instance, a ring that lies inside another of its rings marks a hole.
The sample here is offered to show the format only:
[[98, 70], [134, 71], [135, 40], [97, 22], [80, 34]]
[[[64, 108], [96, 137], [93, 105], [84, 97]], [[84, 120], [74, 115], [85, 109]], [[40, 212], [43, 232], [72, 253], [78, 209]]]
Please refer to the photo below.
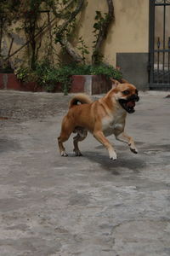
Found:
[[[102, 47], [104, 62], [119, 67], [124, 79], [135, 84], [140, 90], [170, 89], [170, 0], [113, 0], [115, 22], [111, 25]], [[107, 12], [104, 0], [88, 0], [78, 16], [78, 26], [73, 44], [82, 37], [93, 51], [94, 16], [96, 10]], [[13, 32], [13, 51], [20, 48], [26, 39]], [[48, 35], [48, 30], [44, 36]], [[48, 35], [49, 36], [49, 35]], [[45, 40], [44, 40], [45, 41]], [[3, 52], [7, 54], [10, 40], [3, 38]], [[57, 52], [59, 46], [54, 45]], [[42, 45], [42, 52], [45, 51]], [[17, 58], [23, 58], [24, 49]], [[11, 60], [14, 61], [16, 55]]]

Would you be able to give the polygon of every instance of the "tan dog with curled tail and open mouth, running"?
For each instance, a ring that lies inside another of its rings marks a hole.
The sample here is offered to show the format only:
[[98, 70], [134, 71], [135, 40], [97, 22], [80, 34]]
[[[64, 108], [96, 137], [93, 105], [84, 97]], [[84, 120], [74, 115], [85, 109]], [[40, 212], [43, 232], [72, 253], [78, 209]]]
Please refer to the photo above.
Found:
[[[124, 133], [127, 113], [133, 113], [135, 102], [139, 101], [138, 90], [127, 82], [120, 84], [112, 79], [112, 83], [113, 88], [96, 102], [92, 102], [89, 96], [84, 94], [78, 94], [71, 99], [58, 138], [62, 156], [67, 156], [63, 143], [68, 140], [71, 132], [77, 133], [73, 139], [74, 151], [76, 155], [82, 155], [78, 142], [87, 137], [88, 131], [108, 149], [112, 160], [116, 160], [116, 152], [106, 139], [111, 134], [114, 134], [117, 140], [127, 143], [134, 154], [138, 153], [133, 138]], [[82, 104], [78, 105], [77, 102]]]

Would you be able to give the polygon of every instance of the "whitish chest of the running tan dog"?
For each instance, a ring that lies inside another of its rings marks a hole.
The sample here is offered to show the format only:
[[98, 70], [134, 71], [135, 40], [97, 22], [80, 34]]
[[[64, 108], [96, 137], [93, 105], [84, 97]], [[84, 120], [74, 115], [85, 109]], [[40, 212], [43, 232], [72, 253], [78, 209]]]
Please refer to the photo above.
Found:
[[107, 116], [102, 120], [102, 130], [105, 136], [110, 136], [116, 129], [122, 130], [123, 128], [122, 112], [116, 113], [113, 117]]

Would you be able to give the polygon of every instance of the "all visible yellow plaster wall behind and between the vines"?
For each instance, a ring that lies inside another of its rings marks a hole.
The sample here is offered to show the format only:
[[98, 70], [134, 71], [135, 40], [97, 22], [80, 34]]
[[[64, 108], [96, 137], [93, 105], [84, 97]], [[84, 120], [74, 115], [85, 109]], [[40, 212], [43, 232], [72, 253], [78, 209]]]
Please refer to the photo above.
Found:
[[[105, 62], [116, 66], [116, 53], [147, 53], [149, 44], [149, 0], [114, 0], [114, 8], [116, 21], [111, 25], [109, 35], [103, 47], [105, 54]], [[92, 53], [94, 41], [94, 16], [95, 11], [107, 11], [105, 0], [88, 0], [88, 4], [84, 7], [81, 15], [78, 17], [78, 27], [76, 37], [73, 44], [77, 44], [77, 38], [82, 36], [85, 43], [88, 45], [88, 50]], [[18, 49], [26, 39], [22, 33], [14, 32], [14, 47]], [[48, 35], [48, 30], [47, 30]], [[45, 42], [45, 40], [43, 40]], [[3, 40], [3, 52], [8, 52], [10, 40], [8, 37]], [[41, 54], [47, 49], [45, 44], [42, 44]], [[59, 51], [59, 47], [57, 48]], [[25, 50], [22, 50], [14, 58], [20, 61]], [[14, 61], [14, 58], [12, 60]], [[57, 59], [57, 56], [56, 56]], [[91, 61], [91, 56], [88, 55], [88, 62]]]

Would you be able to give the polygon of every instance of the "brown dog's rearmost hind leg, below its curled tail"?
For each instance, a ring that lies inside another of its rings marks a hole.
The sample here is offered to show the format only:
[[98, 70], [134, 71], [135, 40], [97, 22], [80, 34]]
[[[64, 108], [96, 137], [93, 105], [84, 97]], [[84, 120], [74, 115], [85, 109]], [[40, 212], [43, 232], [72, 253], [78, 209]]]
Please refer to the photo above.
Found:
[[74, 126], [71, 125], [71, 122], [69, 122], [69, 120], [66, 118], [63, 119], [60, 136], [58, 137], [59, 152], [61, 156], [68, 156], [68, 154], [66, 154], [65, 152], [65, 147], [63, 143], [65, 143], [69, 139], [73, 130]]

